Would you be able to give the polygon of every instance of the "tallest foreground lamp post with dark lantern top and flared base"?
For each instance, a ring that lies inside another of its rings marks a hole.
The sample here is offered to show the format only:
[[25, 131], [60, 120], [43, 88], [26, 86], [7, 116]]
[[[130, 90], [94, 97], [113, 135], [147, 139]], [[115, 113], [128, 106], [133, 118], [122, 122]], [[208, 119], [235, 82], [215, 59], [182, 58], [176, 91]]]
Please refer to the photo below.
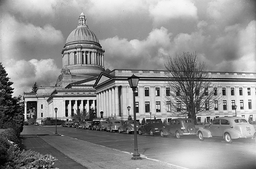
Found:
[[[133, 91], [133, 119], [134, 119], [134, 153], [133, 153], [133, 160], [142, 159], [140, 157], [140, 154], [138, 152], [138, 142], [137, 142], [137, 121], [136, 121], [136, 112], [135, 112], [135, 90], [137, 88], [139, 77], [132, 75], [128, 79], [130, 88], [132, 88]], [[128, 107], [127, 107], [128, 109]]]

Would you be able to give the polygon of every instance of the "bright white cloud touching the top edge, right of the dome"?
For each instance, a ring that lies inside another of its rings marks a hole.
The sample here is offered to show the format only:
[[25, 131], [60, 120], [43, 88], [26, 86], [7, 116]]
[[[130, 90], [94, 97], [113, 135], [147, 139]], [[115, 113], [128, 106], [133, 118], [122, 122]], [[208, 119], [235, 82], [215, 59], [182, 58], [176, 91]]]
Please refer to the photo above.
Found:
[[197, 7], [189, 0], [161, 0], [150, 6], [150, 14], [155, 23], [168, 22], [169, 19], [197, 19]]

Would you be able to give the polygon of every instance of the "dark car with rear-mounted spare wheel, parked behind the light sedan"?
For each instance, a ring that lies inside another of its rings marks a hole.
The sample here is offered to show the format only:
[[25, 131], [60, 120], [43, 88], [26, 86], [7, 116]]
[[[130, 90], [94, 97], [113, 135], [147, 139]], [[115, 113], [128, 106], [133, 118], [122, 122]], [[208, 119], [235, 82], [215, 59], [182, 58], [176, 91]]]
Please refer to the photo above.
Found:
[[161, 137], [173, 135], [177, 139], [182, 135], [196, 135], [196, 127], [191, 118], [175, 118], [160, 129]]

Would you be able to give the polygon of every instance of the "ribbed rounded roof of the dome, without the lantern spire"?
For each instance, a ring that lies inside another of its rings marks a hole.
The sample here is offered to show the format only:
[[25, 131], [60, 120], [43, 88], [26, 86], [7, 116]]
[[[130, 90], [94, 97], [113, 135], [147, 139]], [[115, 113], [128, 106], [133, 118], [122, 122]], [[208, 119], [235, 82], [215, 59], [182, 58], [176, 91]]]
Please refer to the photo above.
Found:
[[87, 27], [87, 25], [80, 25], [73, 30], [66, 40], [66, 44], [70, 42], [93, 41], [98, 43], [97, 36]]

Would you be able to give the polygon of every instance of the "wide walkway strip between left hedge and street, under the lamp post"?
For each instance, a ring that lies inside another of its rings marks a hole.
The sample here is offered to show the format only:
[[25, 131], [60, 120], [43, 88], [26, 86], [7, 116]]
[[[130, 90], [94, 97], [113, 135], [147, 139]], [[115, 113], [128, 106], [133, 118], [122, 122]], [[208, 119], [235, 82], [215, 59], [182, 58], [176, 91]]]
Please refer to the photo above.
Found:
[[90, 142], [55, 136], [46, 131], [46, 127], [24, 126], [21, 139], [25, 150], [34, 150], [42, 154], [51, 154], [57, 158], [54, 166], [59, 169], [181, 169], [176, 165], [154, 161], [146, 157], [134, 161], [132, 154], [112, 148], [92, 144]]

